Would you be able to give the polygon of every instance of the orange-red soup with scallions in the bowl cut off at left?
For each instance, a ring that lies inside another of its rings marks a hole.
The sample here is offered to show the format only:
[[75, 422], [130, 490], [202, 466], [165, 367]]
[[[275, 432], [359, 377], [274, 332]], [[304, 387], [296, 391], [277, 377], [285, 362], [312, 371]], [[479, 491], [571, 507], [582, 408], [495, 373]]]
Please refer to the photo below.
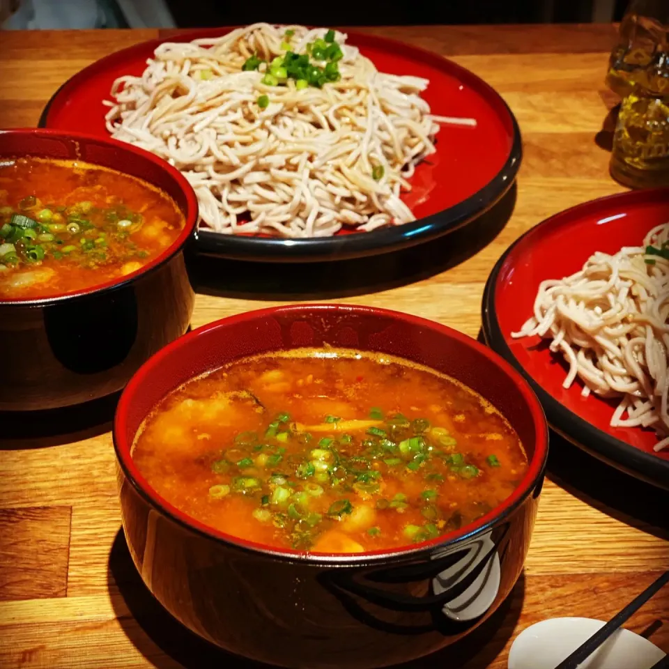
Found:
[[141, 269], [185, 221], [152, 185], [87, 164], [0, 162], [0, 299], [48, 298]]

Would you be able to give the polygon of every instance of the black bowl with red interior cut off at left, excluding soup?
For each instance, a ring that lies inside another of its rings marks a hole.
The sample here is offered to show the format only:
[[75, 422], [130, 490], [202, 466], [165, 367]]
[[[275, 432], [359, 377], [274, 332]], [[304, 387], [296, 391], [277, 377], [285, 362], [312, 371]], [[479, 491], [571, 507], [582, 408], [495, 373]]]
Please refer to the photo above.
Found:
[[[194, 293], [184, 249], [197, 198], [167, 162], [128, 144], [76, 132], [0, 131], [0, 158], [81, 160], [130, 174], [169, 194], [185, 217], [174, 243], [116, 282], [30, 300], [0, 300], [0, 411], [54, 409], [121, 390], [139, 366], [190, 324]], [[17, 351], [20, 346], [21, 353]]]

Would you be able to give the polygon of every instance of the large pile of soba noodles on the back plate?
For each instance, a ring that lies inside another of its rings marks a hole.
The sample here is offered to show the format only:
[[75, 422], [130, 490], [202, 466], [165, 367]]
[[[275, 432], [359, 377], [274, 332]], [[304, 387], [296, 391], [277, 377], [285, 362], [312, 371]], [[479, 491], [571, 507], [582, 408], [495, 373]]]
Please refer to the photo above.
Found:
[[[268, 84], [272, 61], [287, 52], [325, 67], [313, 46], [326, 36], [341, 49], [337, 80]], [[249, 59], [262, 64], [245, 69]], [[428, 84], [378, 72], [342, 33], [259, 23], [157, 47], [140, 77], [114, 82], [107, 128], [177, 167], [197, 193], [201, 225], [214, 231], [369, 231], [415, 220], [400, 194], [434, 153], [438, 123], [475, 125], [431, 115], [420, 96]]]

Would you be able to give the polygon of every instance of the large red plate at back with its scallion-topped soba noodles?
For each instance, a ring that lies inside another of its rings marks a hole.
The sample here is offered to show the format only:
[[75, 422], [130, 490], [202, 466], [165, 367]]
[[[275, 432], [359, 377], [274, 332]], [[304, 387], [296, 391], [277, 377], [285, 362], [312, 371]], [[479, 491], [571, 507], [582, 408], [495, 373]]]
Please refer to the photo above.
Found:
[[495, 203], [521, 155], [508, 107], [454, 63], [262, 23], [111, 54], [70, 79], [41, 123], [84, 123], [169, 161], [197, 193], [199, 250], [247, 259], [435, 238]]

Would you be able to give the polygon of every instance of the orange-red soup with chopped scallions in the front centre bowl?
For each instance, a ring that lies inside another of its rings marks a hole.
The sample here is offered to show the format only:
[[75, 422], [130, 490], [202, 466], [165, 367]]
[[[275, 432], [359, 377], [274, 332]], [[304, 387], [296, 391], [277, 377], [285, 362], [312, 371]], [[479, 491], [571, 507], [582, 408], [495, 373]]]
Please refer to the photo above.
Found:
[[439, 537], [507, 498], [518, 436], [455, 380], [398, 358], [298, 350], [179, 387], [132, 457], [211, 528], [274, 548], [359, 553]]

